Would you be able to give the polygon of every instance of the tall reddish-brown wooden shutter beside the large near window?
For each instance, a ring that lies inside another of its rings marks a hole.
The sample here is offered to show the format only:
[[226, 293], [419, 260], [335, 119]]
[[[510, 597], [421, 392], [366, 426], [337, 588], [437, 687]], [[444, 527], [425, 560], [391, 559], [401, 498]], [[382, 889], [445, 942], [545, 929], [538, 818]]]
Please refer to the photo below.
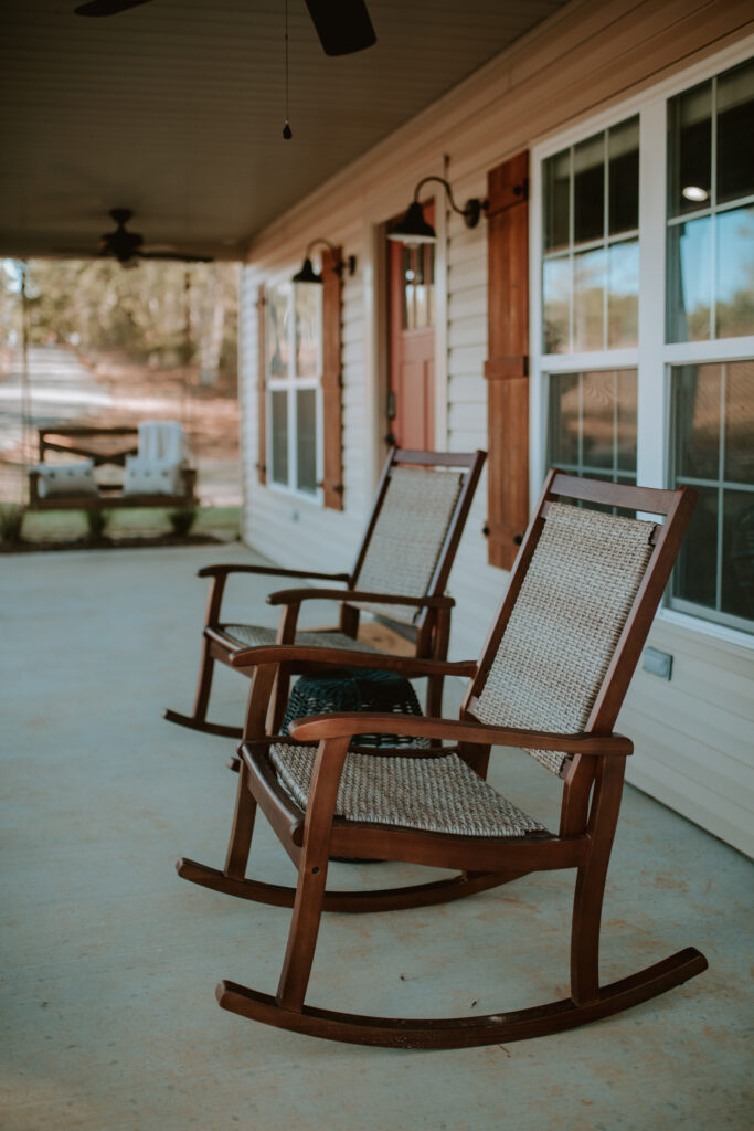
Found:
[[487, 560], [511, 569], [529, 520], [529, 154], [487, 174]]

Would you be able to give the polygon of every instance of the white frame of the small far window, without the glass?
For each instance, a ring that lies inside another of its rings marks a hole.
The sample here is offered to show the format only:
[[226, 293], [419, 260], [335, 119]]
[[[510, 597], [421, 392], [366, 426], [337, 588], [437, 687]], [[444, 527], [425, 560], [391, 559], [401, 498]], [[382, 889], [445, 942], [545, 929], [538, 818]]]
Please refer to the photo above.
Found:
[[[295, 288], [296, 286], [314, 286], [315, 284], [310, 283], [293, 283], [291, 276], [296, 270], [295, 266], [291, 266], [285, 273], [281, 273], [274, 278], [268, 280], [268, 291], [281, 290], [288, 293], [289, 296], [289, 317], [288, 317], [288, 356], [291, 357], [291, 371], [286, 377], [271, 377], [267, 372], [268, 357], [267, 352], [265, 353], [265, 397], [266, 397], [266, 430], [267, 430], [267, 450], [269, 452], [268, 459], [268, 476], [267, 485], [272, 491], [279, 491], [285, 495], [293, 495], [296, 499], [301, 499], [302, 502], [319, 503], [323, 506], [324, 503], [324, 492], [322, 490], [322, 476], [324, 475], [324, 452], [323, 452], [323, 421], [322, 421], [322, 305], [321, 305], [321, 291], [322, 288], [318, 286], [320, 292], [320, 337], [319, 337], [319, 349], [317, 359], [317, 373], [313, 377], [297, 377], [295, 373], [295, 361], [296, 361], [296, 318], [295, 318]], [[267, 313], [265, 316], [268, 317]], [[266, 335], [267, 335], [266, 327]], [[296, 429], [296, 392], [303, 391], [305, 389], [314, 389], [317, 395], [317, 463], [315, 463], [315, 474], [317, 474], [317, 487], [314, 491], [302, 491], [301, 487], [296, 486], [298, 481], [298, 434]], [[272, 477], [275, 467], [275, 456], [272, 447], [272, 394], [274, 392], [287, 392], [287, 438], [288, 438], [288, 482], [280, 483]]]

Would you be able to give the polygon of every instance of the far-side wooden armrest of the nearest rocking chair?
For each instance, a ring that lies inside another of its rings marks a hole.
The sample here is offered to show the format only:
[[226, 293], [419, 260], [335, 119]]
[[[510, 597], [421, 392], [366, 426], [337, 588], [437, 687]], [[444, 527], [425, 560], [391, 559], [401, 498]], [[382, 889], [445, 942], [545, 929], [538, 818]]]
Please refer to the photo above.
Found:
[[[477, 671], [474, 659], [453, 662], [419, 659], [414, 656], [392, 656], [387, 651], [348, 651], [345, 648], [310, 648], [307, 645], [296, 644], [240, 648], [232, 651], [228, 659], [233, 667], [239, 668], [297, 663], [321, 664], [326, 667], [376, 667], [388, 672], [398, 672], [408, 680], [419, 679], [423, 675], [461, 675], [468, 679], [476, 675]], [[402, 716], [393, 716], [393, 718], [398, 717]]]

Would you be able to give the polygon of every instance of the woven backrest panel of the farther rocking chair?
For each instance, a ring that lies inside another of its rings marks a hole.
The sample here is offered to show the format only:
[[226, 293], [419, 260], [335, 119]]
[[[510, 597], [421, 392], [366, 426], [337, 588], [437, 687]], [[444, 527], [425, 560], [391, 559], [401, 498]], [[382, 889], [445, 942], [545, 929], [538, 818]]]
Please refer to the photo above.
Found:
[[[457, 468], [393, 467], [354, 587], [428, 596], [463, 478]], [[409, 605], [359, 603], [357, 607], [407, 624], [421, 616]]]

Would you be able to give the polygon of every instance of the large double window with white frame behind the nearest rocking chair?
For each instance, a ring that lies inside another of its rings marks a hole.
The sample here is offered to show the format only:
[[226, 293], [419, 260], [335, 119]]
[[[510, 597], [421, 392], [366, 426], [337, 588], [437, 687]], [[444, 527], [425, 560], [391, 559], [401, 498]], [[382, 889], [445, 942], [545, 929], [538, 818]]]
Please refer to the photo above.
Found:
[[538, 474], [694, 486], [667, 604], [753, 632], [754, 60], [731, 53], [536, 152], [532, 448]]

